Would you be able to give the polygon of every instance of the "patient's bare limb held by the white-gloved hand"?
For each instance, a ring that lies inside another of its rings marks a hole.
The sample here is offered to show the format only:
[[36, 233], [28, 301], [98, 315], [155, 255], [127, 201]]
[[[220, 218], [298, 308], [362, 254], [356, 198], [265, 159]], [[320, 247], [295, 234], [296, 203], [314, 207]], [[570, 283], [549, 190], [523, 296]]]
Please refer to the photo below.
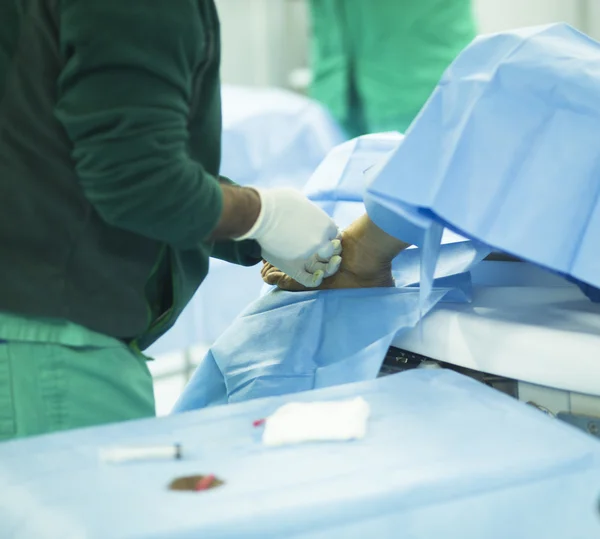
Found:
[[[316, 290], [394, 286], [392, 260], [408, 244], [392, 238], [364, 215], [343, 232], [342, 247], [340, 269]], [[261, 274], [266, 283], [282, 290], [314, 290], [302, 286], [268, 262], [264, 262]]]

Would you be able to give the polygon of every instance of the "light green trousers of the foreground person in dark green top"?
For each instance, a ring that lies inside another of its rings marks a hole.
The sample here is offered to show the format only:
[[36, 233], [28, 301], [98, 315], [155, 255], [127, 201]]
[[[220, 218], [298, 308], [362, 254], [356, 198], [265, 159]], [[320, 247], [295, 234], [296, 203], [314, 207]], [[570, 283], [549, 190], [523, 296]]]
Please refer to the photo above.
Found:
[[0, 313], [0, 441], [154, 414], [141, 353], [70, 322]]

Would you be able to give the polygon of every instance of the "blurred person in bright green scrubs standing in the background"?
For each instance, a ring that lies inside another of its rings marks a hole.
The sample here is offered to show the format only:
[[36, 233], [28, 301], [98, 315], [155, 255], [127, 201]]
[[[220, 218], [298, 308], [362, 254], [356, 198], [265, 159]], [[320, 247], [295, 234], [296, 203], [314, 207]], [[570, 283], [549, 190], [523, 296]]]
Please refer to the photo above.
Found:
[[350, 137], [404, 132], [475, 37], [471, 0], [310, 0], [311, 95]]

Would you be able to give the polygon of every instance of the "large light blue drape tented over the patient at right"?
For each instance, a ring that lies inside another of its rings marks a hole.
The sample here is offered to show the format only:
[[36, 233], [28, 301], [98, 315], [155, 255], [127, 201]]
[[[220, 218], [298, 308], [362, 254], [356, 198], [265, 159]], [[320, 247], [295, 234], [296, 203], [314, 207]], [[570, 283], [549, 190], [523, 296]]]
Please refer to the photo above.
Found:
[[599, 286], [598, 96], [600, 44], [568, 25], [476, 39], [368, 171], [371, 218], [417, 244], [446, 226]]

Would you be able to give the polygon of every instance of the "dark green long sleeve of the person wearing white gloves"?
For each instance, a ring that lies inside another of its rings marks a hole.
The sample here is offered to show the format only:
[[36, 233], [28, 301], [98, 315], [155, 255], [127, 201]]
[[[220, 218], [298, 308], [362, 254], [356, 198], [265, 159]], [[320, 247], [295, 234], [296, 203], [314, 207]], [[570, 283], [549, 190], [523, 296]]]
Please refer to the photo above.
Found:
[[190, 158], [188, 120], [205, 27], [197, 0], [63, 0], [56, 116], [85, 196], [112, 226], [193, 248], [222, 211]]

